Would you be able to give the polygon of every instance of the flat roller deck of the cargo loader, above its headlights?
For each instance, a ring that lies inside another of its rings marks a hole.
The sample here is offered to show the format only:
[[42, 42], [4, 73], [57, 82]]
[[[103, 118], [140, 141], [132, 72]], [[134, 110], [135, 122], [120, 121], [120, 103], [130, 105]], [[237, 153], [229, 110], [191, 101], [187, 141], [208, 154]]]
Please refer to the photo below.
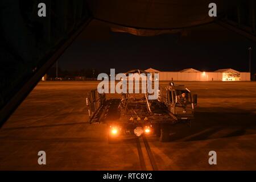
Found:
[[[120, 110], [121, 99], [112, 98], [105, 101], [91, 119], [91, 123], [176, 123], [177, 121], [168, 113], [167, 109], [158, 101], [151, 102], [149, 113], [143, 100], [129, 101], [127, 111]], [[132, 119], [131, 119], [132, 118]]]

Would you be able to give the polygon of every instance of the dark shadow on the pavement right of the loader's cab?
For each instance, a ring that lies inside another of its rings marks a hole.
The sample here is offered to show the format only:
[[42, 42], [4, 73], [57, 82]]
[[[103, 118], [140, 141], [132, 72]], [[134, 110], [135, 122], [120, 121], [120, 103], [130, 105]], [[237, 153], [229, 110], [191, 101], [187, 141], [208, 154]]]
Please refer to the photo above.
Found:
[[191, 127], [177, 123], [171, 127], [170, 140], [187, 142], [256, 134], [256, 114], [241, 110], [235, 112], [235, 108], [233, 112], [226, 108], [219, 110], [222, 112], [195, 113]]

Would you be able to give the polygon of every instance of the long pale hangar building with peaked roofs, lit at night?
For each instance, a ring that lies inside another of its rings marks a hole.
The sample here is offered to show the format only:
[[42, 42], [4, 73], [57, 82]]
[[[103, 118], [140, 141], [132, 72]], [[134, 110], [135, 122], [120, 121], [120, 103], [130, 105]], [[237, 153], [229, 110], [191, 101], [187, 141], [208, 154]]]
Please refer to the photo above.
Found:
[[159, 81], [250, 81], [249, 72], [239, 72], [231, 68], [218, 69], [214, 72], [201, 72], [193, 68], [178, 72], [161, 72], [153, 68], [145, 71], [159, 73]]

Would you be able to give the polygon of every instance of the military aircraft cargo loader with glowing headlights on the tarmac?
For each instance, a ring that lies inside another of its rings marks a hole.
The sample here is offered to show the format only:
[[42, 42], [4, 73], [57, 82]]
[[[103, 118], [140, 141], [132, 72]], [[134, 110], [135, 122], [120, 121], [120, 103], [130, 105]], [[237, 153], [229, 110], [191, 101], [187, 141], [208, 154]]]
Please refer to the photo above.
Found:
[[157, 100], [148, 100], [147, 93], [121, 94], [121, 98], [109, 94], [110, 98], [106, 99], [105, 93], [92, 90], [86, 98], [89, 122], [107, 123], [110, 143], [142, 135], [156, 135], [161, 142], [168, 142], [172, 125], [191, 125], [197, 95], [192, 97], [184, 85], [174, 83], [164, 88], [159, 86], [158, 92]]

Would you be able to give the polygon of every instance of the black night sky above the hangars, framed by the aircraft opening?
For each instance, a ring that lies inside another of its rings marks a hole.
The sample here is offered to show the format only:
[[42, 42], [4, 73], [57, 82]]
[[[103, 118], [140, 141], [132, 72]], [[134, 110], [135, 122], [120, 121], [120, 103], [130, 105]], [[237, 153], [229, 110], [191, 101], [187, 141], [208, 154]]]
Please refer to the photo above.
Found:
[[59, 59], [61, 69], [93, 68], [108, 72], [155, 68], [179, 71], [195, 68], [200, 71], [233, 68], [255, 72], [256, 44], [217, 24], [188, 30], [187, 36], [165, 34], [135, 36], [111, 32], [100, 22], [92, 22]]

